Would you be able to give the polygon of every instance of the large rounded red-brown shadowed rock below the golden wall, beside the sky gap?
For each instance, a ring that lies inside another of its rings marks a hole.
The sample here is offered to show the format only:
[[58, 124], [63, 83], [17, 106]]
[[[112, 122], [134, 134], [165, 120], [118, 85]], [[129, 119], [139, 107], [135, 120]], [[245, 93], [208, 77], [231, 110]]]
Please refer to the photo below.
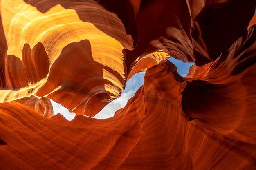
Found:
[[[103, 78], [103, 69], [115, 75], [117, 73], [106, 67], [93, 60], [89, 40], [68, 44], [52, 64], [47, 82], [36, 95], [42, 97], [49, 94], [50, 99], [76, 114], [93, 117], [111, 99], [105, 85], [114, 84]], [[121, 80], [119, 75], [117, 77]], [[56, 88], [59, 89], [54, 91]]]

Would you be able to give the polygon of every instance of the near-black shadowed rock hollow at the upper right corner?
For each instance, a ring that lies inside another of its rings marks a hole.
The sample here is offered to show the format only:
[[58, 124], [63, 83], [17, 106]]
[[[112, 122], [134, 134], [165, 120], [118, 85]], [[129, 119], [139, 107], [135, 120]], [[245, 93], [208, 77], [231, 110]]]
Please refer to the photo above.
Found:
[[222, 51], [229, 49], [238, 38], [245, 35], [254, 13], [255, 0], [246, 3], [230, 0], [205, 5], [195, 22], [200, 25], [211, 60], [216, 60]]

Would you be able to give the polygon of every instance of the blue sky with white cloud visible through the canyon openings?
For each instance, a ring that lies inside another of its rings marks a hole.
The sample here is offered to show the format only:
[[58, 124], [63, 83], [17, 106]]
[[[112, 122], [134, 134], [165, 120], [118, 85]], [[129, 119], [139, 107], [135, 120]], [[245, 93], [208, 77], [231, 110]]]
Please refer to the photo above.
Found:
[[[189, 67], [194, 64], [184, 63], [180, 60], [176, 60], [173, 57], [169, 58], [168, 60], [175, 64], [178, 73], [183, 77], [185, 77], [189, 72]], [[128, 99], [130, 99], [135, 94], [137, 89], [144, 84], [144, 75], [145, 73], [137, 73], [132, 78], [130, 78], [126, 83], [126, 89], [122, 91], [121, 97], [110, 102], [94, 118], [106, 119], [114, 116], [115, 111], [123, 108], [126, 105]], [[70, 113], [65, 107], [53, 102], [52, 100], [51, 102], [54, 109], [54, 115], [61, 113], [67, 120], [74, 119], [74, 113]]]

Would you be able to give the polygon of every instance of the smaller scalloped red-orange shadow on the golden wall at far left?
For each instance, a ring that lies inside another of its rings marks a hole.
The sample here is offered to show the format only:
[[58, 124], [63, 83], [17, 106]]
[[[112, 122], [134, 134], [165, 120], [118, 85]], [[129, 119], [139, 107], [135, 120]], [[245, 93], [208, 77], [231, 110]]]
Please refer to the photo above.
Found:
[[49, 59], [40, 42], [32, 49], [29, 44], [24, 44], [22, 60], [14, 55], [8, 55], [5, 60], [5, 75], [8, 77], [7, 84], [10, 90], [19, 90], [29, 84], [39, 82], [47, 76], [49, 71]]

